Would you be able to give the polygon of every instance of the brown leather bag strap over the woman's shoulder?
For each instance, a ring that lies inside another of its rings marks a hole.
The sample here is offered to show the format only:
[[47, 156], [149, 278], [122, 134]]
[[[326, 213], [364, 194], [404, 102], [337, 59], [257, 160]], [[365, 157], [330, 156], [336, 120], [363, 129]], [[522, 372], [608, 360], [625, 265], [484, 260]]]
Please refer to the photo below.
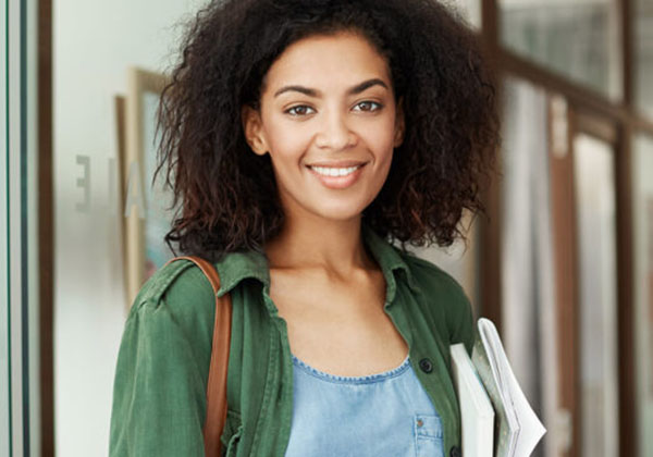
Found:
[[169, 260], [168, 263], [178, 259], [188, 259], [195, 262], [208, 277], [215, 295], [215, 323], [207, 384], [207, 417], [204, 427], [204, 439], [206, 457], [219, 457], [221, 450], [220, 436], [226, 422], [226, 371], [229, 368], [232, 320], [231, 296], [226, 294], [218, 298], [220, 276], [211, 263], [197, 256], [175, 257]]

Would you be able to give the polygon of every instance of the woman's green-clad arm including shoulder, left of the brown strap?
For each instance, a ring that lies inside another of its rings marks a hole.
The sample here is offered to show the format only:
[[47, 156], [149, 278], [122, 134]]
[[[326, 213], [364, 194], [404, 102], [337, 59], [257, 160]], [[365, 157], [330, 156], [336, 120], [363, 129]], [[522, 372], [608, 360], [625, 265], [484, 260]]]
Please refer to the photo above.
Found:
[[110, 457], [205, 455], [212, 334], [207, 312], [214, 298], [195, 267], [177, 265], [174, 281], [161, 281], [163, 274], [155, 285], [164, 283], [164, 293], [150, 287], [125, 324], [113, 385]]

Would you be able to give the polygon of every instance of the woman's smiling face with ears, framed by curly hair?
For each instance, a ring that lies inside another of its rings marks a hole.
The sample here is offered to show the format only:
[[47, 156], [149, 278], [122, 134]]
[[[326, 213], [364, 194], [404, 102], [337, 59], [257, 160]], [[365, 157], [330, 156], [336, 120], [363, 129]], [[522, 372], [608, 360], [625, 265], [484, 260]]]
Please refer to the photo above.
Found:
[[286, 48], [243, 122], [255, 153], [271, 157], [286, 217], [341, 221], [379, 194], [404, 132], [387, 62], [353, 33]]

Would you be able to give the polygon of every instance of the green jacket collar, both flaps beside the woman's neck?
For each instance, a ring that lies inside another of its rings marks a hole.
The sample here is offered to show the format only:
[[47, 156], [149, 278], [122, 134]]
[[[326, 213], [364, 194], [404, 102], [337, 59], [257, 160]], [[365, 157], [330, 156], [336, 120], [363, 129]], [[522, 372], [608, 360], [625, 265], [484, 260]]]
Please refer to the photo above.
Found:
[[[379, 263], [386, 283], [386, 304], [394, 300], [398, 272], [403, 271], [408, 284], [416, 288], [410, 268], [398, 248], [379, 236], [367, 224], [361, 224], [361, 236], [372, 257]], [[218, 262], [215, 269], [220, 275], [218, 297], [223, 296], [245, 279], [256, 279], [270, 289], [270, 269], [264, 252], [258, 250], [229, 252]]]

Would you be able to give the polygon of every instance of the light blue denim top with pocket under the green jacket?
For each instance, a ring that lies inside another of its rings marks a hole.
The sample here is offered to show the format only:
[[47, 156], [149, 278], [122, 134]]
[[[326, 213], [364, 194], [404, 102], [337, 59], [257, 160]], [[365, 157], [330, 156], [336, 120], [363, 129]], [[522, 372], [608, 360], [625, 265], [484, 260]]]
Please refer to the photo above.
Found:
[[443, 457], [442, 422], [408, 356], [366, 376], [319, 371], [293, 356], [285, 457]]

